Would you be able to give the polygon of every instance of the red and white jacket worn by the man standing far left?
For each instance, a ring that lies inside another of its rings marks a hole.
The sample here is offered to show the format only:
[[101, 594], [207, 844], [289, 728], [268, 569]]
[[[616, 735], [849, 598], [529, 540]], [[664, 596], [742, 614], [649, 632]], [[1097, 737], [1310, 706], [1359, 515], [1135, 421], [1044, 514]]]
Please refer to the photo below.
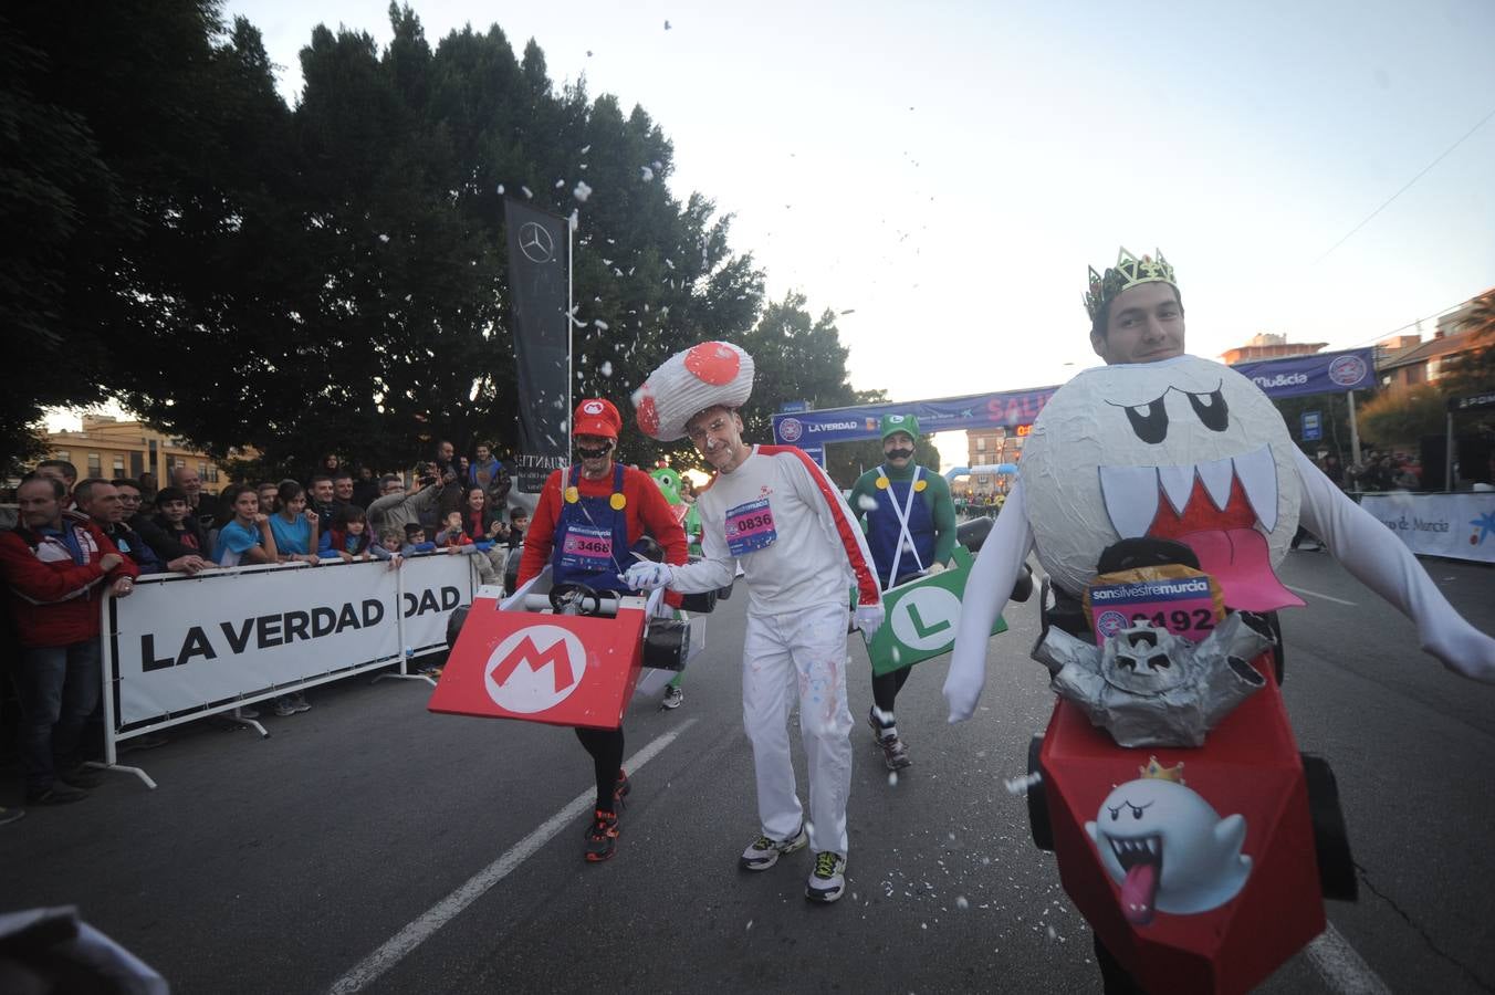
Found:
[[139, 577], [130, 557], [108, 574], [99, 560], [120, 550], [93, 521], [76, 512], [63, 512], [63, 529], [78, 539], [84, 562], [57, 536], [39, 536], [33, 550], [21, 532], [0, 533], [0, 575], [10, 592], [21, 645], [69, 645], [99, 636], [99, 599], [103, 583], [120, 577]]

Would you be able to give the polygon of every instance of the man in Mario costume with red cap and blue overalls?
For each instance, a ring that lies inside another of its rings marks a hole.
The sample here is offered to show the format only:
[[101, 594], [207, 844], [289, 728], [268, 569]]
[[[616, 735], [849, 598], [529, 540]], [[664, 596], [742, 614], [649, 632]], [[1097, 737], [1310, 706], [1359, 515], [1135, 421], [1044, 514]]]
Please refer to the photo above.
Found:
[[[668, 563], [685, 563], [685, 530], [649, 474], [613, 462], [623, 418], [610, 400], [588, 397], [571, 417], [580, 463], [555, 471], [540, 490], [540, 503], [525, 533], [519, 560], [523, 586], [550, 563], [556, 584], [580, 583], [594, 590], [626, 590], [620, 574], [635, 562], [632, 547], [652, 533]], [[679, 605], [679, 595], [671, 602]], [[623, 729], [577, 729], [597, 772], [597, 810], [586, 838], [591, 864], [613, 856], [617, 802], [628, 793], [623, 774]]]

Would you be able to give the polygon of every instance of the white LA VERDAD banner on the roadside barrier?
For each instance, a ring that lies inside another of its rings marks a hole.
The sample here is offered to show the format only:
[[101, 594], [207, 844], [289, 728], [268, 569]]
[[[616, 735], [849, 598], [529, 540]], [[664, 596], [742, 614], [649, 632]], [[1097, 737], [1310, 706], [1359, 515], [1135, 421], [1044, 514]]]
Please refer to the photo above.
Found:
[[469, 559], [142, 577], [106, 607], [115, 723], [224, 711], [444, 645], [447, 616], [472, 602]]

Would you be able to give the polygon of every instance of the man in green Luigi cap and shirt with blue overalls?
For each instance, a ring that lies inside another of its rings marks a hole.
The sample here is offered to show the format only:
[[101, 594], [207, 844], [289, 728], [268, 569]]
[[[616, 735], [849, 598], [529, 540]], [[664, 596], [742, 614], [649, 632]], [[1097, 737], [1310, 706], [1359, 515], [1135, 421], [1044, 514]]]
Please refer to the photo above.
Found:
[[[937, 574], [955, 550], [955, 502], [945, 478], [913, 462], [919, 421], [910, 414], [882, 417], [881, 466], [863, 474], [851, 490], [851, 506], [866, 521], [867, 545], [882, 590]], [[872, 726], [890, 771], [910, 763], [898, 738], [893, 704], [912, 666], [872, 678]]]

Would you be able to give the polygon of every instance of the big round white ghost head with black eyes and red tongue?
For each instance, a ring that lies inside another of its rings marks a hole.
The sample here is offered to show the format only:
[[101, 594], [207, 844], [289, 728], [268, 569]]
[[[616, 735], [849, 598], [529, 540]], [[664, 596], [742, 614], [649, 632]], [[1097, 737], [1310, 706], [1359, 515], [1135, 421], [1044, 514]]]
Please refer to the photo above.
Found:
[[1193, 356], [1088, 369], [1023, 448], [1038, 559], [1079, 593], [1124, 538], [1193, 548], [1232, 608], [1302, 605], [1274, 568], [1298, 529], [1293, 441], [1256, 384]]

